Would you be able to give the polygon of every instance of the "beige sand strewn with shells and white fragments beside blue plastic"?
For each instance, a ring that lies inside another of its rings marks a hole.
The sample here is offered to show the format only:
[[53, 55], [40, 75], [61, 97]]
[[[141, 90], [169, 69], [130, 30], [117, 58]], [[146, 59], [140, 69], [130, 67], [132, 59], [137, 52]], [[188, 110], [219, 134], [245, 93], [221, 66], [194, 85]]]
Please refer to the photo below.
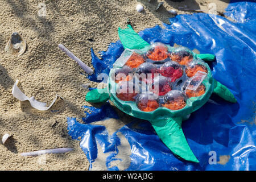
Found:
[[[222, 14], [228, 5], [226, 1], [217, 0], [166, 0], [164, 7], [155, 12], [156, 1], [148, 3], [147, 0], [0, 2], [0, 137], [5, 133], [14, 134], [5, 146], [0, 142], [0, 170], [89, 168], [79, 141], [68, 135], [67, 117], [80, 119], [85, 116], [82, 106], [90, 104], [84, 100], [88, 89], [82, 84], [92, 87], [97, 84], [85, 77], [84, 71], [60, 51], [58, 44], [64, 44], [93, 68], [90, 48], [96, 53], [106, 51], [110, 43], [119, 39], [117, 29], [126, 27], [127, 19], [138, 32], [161, 22], [168, 23], [172, 15], [167, 10], [179, 6], [187, 5], [208, 13], [209, 3], [215, 2], [217, 13]], [[46, 5], [46, 16], [42, 16], [42, 6], [39, 6], [42, 2]], [[142, 13], [135, 10], [137, 3], [144, 5]], [[178, 11], [178, 14], [184, 13], [193, 12]], [[5, 45], [15, 31], [27, 42], [26, 52], [19, 57], [5, 53]], [[64, 100], [58, 100], [48, 111], [33, 109], [28, 101], [20, 102], [12, 96], [11, 89], [16, 80], [20, 81], [18, 86], [28, 97], [35, 96], [36, 100], [50, 104], [59, 94]], [[74, 151], [38, 157], [20, 156], [22, 152], [59, 147], [73, 147]]]

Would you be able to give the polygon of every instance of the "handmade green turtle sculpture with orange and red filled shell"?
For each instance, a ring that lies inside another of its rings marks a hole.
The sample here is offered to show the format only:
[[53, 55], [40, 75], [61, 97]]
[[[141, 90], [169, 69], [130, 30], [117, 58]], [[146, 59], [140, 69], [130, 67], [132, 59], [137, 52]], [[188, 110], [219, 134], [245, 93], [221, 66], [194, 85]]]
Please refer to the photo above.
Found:
[[214, 55], [163, 43], [148, 44], [130, 25], [119, 28], [118, 34], [125, 51], [113, 64], [106, 88], [90, 90], [85, 100], [110, 100], [123, 112], [150, 121], [178, 158], [198, 163], [181, 129], [182, 121], [203, 106], [212, 93], [236, 102], [228, 88], [214, 80], [203, 61], [214, 60]]

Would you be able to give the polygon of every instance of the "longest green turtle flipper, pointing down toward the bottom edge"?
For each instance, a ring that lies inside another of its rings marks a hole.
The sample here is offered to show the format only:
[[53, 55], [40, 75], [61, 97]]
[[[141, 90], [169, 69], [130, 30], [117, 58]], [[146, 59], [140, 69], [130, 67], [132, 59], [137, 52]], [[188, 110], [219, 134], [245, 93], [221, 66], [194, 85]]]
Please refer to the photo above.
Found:
[[161, 121], [150, 121], [159, 138], [178, 157], [199, 163], [191, 151], [181, 128], [181, 117], [170, 118]]

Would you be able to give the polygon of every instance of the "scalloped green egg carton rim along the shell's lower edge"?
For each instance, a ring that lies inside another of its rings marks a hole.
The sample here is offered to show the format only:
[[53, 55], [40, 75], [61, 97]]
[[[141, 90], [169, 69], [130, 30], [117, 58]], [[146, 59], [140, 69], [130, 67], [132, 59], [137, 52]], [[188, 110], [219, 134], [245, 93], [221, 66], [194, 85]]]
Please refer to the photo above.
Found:
[[[122, 101], [116, 95], [114, 89], [117, 88], [118, 84], [112, 80], [111, 77], [108, 78], [108, 93], [110, 96], [110, 100], [118, 107], [118, 109], [122, 110], [124, 113], [132, 115], [133, 117], [145, 119], [145, 120], [162, 120], [173, 117], [185, 117], [188, 114], [191, 114], [193, 111], [196, 111], [201, 106], [203, 106], [210, 98], [213, 93], [214, 84], [212, 72], [207, 64], [204, 66], [208, 69], [207, 77], [205, 77], [203, 84], [205, 85], [205, 93], [199, 97], [191, 97], [187, 100], [187, 105], [180, 110], [170, 110], [166, 107], [158, 107], [158, 109], [150, 112], [140, 110], [135, 101]], [[110, 75], [112, 75], [117, 68], [113, 68], [110, 70]]]

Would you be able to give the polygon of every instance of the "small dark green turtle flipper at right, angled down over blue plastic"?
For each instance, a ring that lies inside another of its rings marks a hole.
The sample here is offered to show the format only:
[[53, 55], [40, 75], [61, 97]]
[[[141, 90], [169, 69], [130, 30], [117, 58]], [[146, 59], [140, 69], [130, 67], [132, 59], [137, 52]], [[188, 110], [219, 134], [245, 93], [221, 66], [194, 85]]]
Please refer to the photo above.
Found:
[[226, 101], [236, 103], [237, 100], [234, 97], [233, 93], [230, 92], [230, 90], [225, 86], [222, 85], [220, 82], [217, 80], [214, 80], [214, 90], [213, 93], [217, 94], [221, 98], [223, 98]]

